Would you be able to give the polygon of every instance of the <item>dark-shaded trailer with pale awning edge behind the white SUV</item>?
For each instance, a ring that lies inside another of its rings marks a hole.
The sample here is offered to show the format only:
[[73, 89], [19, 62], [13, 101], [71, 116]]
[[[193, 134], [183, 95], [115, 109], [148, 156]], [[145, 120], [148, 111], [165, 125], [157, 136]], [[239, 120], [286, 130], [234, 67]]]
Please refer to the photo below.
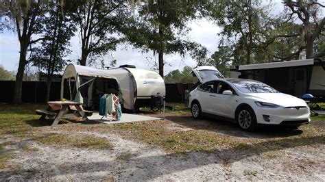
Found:
[[255, 79], [294, 96], [325, 96], [325, 62], [320, 59], [240, 65], [230, 77]]

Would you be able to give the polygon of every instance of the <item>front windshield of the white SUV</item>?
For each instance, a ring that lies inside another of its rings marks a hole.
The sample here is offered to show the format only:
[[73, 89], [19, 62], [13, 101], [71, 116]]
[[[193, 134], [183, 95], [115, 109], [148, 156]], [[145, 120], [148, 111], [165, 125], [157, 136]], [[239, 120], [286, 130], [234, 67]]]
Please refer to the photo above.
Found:
[[250, 79], [228, 79], [239, 91], [243, 93], [278, 93], [278, 90], [267, 84]]

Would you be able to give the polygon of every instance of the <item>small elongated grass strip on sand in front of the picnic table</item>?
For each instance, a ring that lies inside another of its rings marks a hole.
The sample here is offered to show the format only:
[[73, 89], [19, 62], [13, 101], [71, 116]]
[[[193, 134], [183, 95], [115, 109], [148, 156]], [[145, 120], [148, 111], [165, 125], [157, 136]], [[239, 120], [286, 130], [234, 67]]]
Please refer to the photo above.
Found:
[[34, 138], [41, 144], [49, 144], [55, 146], [70, 146], [77, 148], [92, 148], [92, 149], [106, 149], [110, 148], [110, 142], [106, 138], [95, 137], [93, 135], [67, 135], [50, 133], [45, 136]]

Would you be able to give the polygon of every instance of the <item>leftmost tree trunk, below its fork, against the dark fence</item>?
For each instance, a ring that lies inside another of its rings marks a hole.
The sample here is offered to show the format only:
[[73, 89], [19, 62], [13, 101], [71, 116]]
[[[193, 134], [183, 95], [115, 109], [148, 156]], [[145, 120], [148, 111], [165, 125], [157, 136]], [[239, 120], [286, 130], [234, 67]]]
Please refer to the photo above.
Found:
[[14, 98], [12, 100], [12, 103], [14, 104], [21, 104], [21, 90], [23, 87], [23, 77], [24, 77], [25, 65], [26, 65], [26, 54], [27, 54], [27, 46], [25, 46], [24, 42], [21, 42], [19, 66], [16, 74], [16, 81], [14, 83]]

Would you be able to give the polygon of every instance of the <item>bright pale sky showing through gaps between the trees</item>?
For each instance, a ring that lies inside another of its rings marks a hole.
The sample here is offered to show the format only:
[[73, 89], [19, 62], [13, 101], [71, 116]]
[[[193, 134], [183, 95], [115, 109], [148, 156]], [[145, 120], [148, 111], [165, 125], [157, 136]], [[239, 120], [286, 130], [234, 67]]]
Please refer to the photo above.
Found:
[[[280, 12], [280, 0], [274, 0], [276, 3], [275, 12]], [[217, 51], [220, 38], [217, 34], [221, 31], [217, 25], [206, 19], [199, 19], [191, 21], [188, 26], [191, 28], [189, 31], [189, 40], [198, 42], [202, 46], [206, 47], [209, 51], [208, 57]], [[77, 60], [81, 57], [80, 40], [79, 36], [75, 35], [71, 39], [71, 47], [73, 51], [67, 58], [71, 60]], [[116, 51], [109, 52], [104, 60], [106, 64], [109, 64], [112, 59], [117, 60], [117, 66], [122, 64], [131, 64], [136, 68], [151, 69], [152, 64], [149, 64], [150, 60], [156, 60], [158, 62], [158, 55], [154, 55], [152, 52], [142, 53], [141, 49], [134, 49], [132, 46], [122, 44], [117, 47]], [[149, 60], [149, 61], [148, 61]], [[184, 57], [179, 54], [171, 54], [164, 56], [165, 62], [165, 75], [171, 70], [182, 70], [184, 66], [195, 67], [196, 62], [191, 59], [189, 53]], [[0, 64], [10, 71], [16, 71], [19, 63], [19, 40], [16, 33], [13, 31], [5, 31], [0, 34]], [[170, 66], [169, 66], [170, 65]], [[97, 66], [98, 67], [98, 66]]]

